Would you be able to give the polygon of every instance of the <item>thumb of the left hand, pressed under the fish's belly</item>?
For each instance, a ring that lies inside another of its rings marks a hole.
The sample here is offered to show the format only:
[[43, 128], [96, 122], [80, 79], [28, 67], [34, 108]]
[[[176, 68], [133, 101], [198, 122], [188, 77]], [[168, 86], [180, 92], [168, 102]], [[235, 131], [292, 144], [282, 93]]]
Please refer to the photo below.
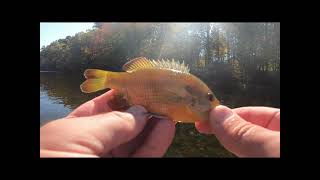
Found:
[[142, 106], [132, 106], [126, 112], [112, 111], [68, 121], [76, 126], [75, 132], [84, 136], [75, 137], [75, 144], [89, 149], [92, 154], [104, 156], [143, 130], [147, 111]]

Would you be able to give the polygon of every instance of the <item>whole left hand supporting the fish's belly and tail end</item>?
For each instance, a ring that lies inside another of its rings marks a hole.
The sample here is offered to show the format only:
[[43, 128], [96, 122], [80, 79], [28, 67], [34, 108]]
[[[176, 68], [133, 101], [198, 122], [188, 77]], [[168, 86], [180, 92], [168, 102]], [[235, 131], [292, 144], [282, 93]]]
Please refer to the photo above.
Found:
[[158, 157], [172, 143], [175, 124], [149, 119], [142, 106], [125, 112], [107, 105], [115, 91], [88, 101], [40, 128], [42, 157]]

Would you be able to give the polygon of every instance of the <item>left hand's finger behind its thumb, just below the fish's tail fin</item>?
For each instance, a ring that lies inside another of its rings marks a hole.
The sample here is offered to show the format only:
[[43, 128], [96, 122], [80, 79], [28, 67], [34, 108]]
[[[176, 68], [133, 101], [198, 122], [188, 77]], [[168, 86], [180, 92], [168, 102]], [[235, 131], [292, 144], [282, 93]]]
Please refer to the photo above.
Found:
[[112, 99], [115, 93], [116, 91], [111, 89], [110, 91], [80, 105], [78, 108], [73, 110], [67, 118], [91, 116], [112, 111], [107, 102]]

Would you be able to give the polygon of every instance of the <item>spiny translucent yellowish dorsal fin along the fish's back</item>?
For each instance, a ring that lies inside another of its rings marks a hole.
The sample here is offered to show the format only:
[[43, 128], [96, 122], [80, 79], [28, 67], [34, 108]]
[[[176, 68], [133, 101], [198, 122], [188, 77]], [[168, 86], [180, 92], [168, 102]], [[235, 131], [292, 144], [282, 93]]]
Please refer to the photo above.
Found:
[[149, 60], [145, 57], [138, 57], [130, 60], [122, 66], [126, 72], [133, 72], [139, 69], [169, 69], [181, 73], [189, 73], [189, 68], [183, 63], [170, 60]]

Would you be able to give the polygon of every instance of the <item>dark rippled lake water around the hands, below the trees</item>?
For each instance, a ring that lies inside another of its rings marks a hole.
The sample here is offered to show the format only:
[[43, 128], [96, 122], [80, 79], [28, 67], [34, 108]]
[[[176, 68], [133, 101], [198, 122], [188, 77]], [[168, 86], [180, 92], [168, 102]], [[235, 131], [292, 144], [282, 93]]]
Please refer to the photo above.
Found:
[[[65, 117], [82, 103], [103, 93], [102, 91], [93, 94], [82, 93], [79, 86], [84, 80], [82, 74], [40, 73], [40, 126]], [[273, 91], [279, 92], [279, 89], [256, 86], [247, 89], [250, 91], [237, 89], [228, 94], [216, 89], [216, 95], [223, 100], [223, 104], [230, 107], [248, 105], [280, 107], [279, 93], [273, 93]], [[215, 136], [200, 134], [193, 124], [179, 123], [176, 125], [174, 141], [165, 156], [234, 157], [219, 144]]]

